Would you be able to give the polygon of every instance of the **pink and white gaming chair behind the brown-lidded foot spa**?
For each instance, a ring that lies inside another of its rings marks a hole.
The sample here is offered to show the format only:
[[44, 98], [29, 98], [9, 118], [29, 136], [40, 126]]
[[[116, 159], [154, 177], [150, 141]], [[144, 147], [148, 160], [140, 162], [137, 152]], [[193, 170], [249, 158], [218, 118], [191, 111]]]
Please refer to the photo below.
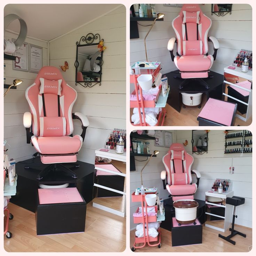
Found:
[[[163, 156], [166, 170], [161, 172], [161, 179], [164, 189], [167, 189], [173, 201], [194, 199], [201, 175], [197, 170], [191, 171], [193, 161], [194, 158], [185, 151], [181, 143], [173, 143], [168, 153]], [[191, 174], [197, 176], [197, 183], [192, 184]]]

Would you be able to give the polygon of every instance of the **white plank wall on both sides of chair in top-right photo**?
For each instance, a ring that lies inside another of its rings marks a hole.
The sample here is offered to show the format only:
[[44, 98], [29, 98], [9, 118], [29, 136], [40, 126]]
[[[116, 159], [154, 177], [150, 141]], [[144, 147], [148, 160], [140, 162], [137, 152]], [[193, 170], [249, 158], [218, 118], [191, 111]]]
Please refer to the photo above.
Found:
[[[208, 36], [218, 39], [220, 48], [217, 58], [211, 68], [212, 71], [223, 74], [223, 68], [230, 65], [237, 52], [242, 49], [252, 50], [252, 9], [247, 4], [233, 4], [232, 14], [223, 17], [211, 15], [211, 4], [200, 5], [203, 13], [212, 20]], [[163, 65], [162, 73], [176, 70], [167, 50], [168, 40], [175, 37], [171, 21], [178, 15], [181, 8], [156, 5], [157, 13], [164, 13], [164, 21], [156, 22], [146, 39], [149, 61], [160, 61]], [[150, 25], [152, 22], [138, 22]], [[139, 26], [139, 38], [130, 40], [130, 63], [145, 61], [144, 37], [149, 27]], [[209, 54], [213, 54], [213, 45], [209, 42]], [[174, 47], [176, 52], [176, 45]]]

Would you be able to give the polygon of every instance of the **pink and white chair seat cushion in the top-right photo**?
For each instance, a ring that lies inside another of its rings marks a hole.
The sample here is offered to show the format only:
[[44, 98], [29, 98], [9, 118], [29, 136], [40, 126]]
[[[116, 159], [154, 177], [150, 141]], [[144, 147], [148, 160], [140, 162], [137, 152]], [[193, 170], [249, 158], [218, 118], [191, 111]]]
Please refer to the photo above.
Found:
[[213, 64], [211, 55], [183, 55], [176, 56], [174, 63], [180, 71], [204, 71], [209, 70]]

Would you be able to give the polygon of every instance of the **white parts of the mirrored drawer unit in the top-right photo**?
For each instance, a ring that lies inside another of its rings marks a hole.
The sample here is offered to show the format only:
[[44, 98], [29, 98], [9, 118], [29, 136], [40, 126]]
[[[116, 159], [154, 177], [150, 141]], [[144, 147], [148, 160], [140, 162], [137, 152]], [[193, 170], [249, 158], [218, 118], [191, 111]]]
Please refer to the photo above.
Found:
[[[229, 66], [224, 67], [224, 73], [236, 75], [236, 76], [238, 76], [238, 77], [247, 79], [247, 80], [249, 80], [249, 81], [251, 81], [251, 82], [253, 81], [253, 71], [249, 70], [248, 72], [245, 73], [245, 72], [242, 72], [242, 71], [241, 71], [240, 67], [236, 67], [234, 70], [233, 70], [233, 69], [229, 69], [228, 67], [229, 67]], [[241, 120], [243, 120], [243, 121], [246, 122], [246, 121], [252, 116], [252, 114], [253, 114], [252, 89], [248, 90], [248, 89], [246, 89], [246, 88], [243, 88], [243, 87], [241, 87], [241, 86], [236, 85], [235, 83], [230, 83], [230, 82], [225, 81], [225, 80], [224, 80], [223, 82], [224, 82], [224, 83], [227, 83], [227, 84], [229, 84], [229, 85], [232, 85], [232, 86], [234, 86], [234, 87], [240, 88], [240, 89], [242, 89], [242, 90], [248, 91], [248, 92], [250, 93], [250, 94], [249, 94], [249, 98], [248, 98], [248, 103], [246, 103], [246, 102], [240, 101], [240, 99], [234, 98], [234, 97], [232, 97], [232, 96], [226, 94], [225, 91], [222, 92], [222, 94], [223, 94], [224, 96], [227, 96], [227, 97], [229, 97], [229, 98], [232, 98], [232, 99], [234, 99], [235, 101], [238, 101], [238, 102], [240, 102], [240, 103], [242, 103], [242, 104], [245, 104], [245, 105], [247, 106], [246, 117], [242, 117], [242, 116], [239, 115], [239, 114], [236, 114], [236, 115], [235, 115], [235, 116], [238, 117], [239, 119], [241, 119]]]

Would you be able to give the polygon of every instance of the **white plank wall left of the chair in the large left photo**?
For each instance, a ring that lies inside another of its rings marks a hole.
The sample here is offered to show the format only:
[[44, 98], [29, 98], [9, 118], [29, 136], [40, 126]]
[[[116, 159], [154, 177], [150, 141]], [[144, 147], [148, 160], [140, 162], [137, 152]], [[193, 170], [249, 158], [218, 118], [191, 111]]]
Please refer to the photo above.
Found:
[[[17, 38], [16, 34], [5, 32], [5, 39]], [[47, 42], [26, 38], [25, 42], [43, 47], [43, 65], [47, 65]], [[6, 84], [11, 85], [19, 78], [23, 83], [17, 89], [10, 90], [4, 97], [4, 139], [11, 146], [9, 157], [22, 161], [32, 158], [35, 153], [31, 144], [26, 144], [26, 130], [23, 126], [23, 114], [29, 110], [25, 98], [25, 90], [32, 85], [36, 73], [13, 70], [13, 61], [4, 61], [6, 64]]]

